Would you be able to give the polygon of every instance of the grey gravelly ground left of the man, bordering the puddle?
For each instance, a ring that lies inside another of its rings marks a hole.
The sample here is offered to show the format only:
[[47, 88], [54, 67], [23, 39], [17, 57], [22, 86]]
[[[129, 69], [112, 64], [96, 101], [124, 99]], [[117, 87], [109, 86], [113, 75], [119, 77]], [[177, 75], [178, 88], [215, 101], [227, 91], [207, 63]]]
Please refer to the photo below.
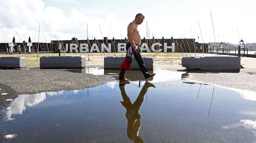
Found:
[[[13, 89], [16, 94], [77, 90], [115, 80], [109, 75], [72, 73], [65, 69], [0, 70], [0, 73], [0, 83], [10, 87], [10, 90]], [[0, 84], [0, 89], [5, 88]], [[2, 91], [0, 90], [0, 94], [9, 92]]]

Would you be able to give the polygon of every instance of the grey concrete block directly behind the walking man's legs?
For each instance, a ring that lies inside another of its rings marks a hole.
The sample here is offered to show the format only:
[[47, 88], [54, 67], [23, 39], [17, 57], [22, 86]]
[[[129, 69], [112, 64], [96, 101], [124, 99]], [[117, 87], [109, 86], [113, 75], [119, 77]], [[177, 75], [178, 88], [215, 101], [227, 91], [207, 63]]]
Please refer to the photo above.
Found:
[[[152, 70], [154, 66], [154, 59], [152, 57], [142, 57], [144, 64], [148, 70]], [[104, 69], [120, 69], [125, 56], [106, 56], [104, 58]], [[131, 69], [140, 69], [137, 61], [132, 61]]]

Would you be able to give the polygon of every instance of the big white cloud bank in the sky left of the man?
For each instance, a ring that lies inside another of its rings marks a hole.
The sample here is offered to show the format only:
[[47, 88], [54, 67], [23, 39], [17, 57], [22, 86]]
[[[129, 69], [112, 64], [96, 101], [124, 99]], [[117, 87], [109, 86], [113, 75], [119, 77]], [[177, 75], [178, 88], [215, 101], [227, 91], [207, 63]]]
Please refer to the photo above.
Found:
[[[15, 3], [15, 5], [13, 5]], [[63, 14], [62, 9], [47, 6], [44, 9], [44, 2], [41, 0], [15, 0], [0, 1], [0, 38], [1, 43], [12, 41], [15, 36], [16, 42], [27, 41], [31, 37], [32, 42], [38, 41], [38, 26], [40, 25], [40, 42], [56, 40], [69, 40], [72, 37], [86, 39], [87, 23], [89, 39], [102, 39], [113, 33], [120, 33], [120, 23], [113, 13], [105, 18], [86, 16], [76, 9], [73, 9], [69, 16]], [[16, 34], [16, 32], [19, 36]], [[42, 35], [44, 33], [44, 36]]]

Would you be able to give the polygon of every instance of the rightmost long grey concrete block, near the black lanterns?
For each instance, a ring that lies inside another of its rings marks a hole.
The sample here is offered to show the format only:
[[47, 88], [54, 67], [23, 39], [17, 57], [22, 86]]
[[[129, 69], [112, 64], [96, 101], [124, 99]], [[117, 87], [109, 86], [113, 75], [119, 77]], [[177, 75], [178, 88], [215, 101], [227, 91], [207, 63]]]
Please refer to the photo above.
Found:
[[240, 70], [238, 56], [186, 56], [181, 64], [188, 70]]

